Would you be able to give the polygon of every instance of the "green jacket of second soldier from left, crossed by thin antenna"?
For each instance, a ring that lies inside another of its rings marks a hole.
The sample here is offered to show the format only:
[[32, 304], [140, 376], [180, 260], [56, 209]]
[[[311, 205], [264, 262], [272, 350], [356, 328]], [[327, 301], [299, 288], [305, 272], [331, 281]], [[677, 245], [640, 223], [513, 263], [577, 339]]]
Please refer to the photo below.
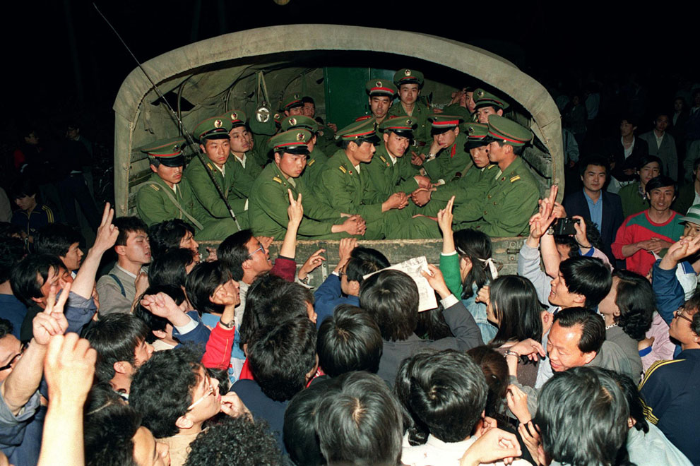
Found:
[[[206, 157], [205, 157], [206, 158]], [[219, 169], [214, 166], [210, 160], [206, 161], [206, 168], [199, 160], [192, 160], [184, 171], [184, 176], [189, 185], [192, 186], [194, 196], [198, 201], [198, 209], [205, 210], [210, 217], [215, 218], [230, 218], [230, 213], [226, 208], [226, 204], [221, 200], [219, 193], [216, 191], [214, 184], [209, 179], [206, 170], [209, 170], [216, 179], [219, 187], [226, 196], [236, 217], [241, 215], [245, 210], [245, 199], [241, 198], [234, 186], [234, 177], [236, 167], [233, 164], [238, 163], [230, 159], [226, 161], [224, 167], [226, 176], [223, 177]], [[239, 165], [240, 167], [240, 165]]]

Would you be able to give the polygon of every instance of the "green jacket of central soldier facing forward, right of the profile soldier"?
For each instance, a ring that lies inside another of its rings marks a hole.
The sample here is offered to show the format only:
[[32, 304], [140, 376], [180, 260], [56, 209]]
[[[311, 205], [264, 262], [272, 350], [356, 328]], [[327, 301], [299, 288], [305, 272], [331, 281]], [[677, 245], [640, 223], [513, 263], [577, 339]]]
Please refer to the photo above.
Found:
[[391, 157], [386, 152], [386, 146], [376, 148], [372, 162], [363, 165], [367, 171], [369, 181], [372, 183], [376, 198], [374, 202], [384, 202], [393, 193], [412, 193], [418, 188], [415, 179], [415, 169], [411, 165], [410, 155], [403, 155], [396, 159], [396, 164], [391, 163]]

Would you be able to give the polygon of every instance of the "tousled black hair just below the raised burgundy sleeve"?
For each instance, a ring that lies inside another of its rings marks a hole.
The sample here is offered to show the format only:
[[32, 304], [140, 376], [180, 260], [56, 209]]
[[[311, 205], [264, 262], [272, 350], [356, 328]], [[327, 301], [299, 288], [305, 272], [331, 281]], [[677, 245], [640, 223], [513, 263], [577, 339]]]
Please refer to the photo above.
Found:
[[250, 344], [263, 327], [297, 316], [309, 318], [307, 304], [314, 304], [314, 295], [302, 285], [271, 274], [258, 277], [246, 294], [246, 309], [239, 328], [240, 347]]

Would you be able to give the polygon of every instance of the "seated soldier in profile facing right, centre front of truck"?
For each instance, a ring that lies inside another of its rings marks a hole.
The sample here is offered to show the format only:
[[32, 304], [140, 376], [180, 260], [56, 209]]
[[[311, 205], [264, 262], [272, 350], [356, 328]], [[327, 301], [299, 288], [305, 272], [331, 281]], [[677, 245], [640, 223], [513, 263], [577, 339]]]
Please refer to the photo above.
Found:
[[317, 194], [328, 206], [356, 213], [367, 222], [365, 239], [400, 239], [439, 237], [437, 223], [402, 210], [408, 205], [405, 192], [390, 194], [386, 199], [376, 193], [367, 173], [367, 164], [375, 152], [374, 119], [350, 124], [338, 131], [343, 148], [326, 162]]

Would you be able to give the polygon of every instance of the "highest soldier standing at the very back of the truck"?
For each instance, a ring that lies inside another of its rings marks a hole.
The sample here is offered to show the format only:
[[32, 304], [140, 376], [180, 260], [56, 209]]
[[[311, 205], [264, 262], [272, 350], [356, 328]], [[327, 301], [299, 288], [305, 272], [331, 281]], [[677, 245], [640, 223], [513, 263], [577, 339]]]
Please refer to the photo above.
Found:
[[423, 73], [420, 71], [403, 68], [393, 75], [393, 83], [398, 88], [398, 102], [388, 111], [389, 117], [413, 117], [416, 129], [415, 141], [417, 145], [427, 145], [432, 141], [428, 115], [430, 108], [422, 104], [418, 97], [423, 87]]

